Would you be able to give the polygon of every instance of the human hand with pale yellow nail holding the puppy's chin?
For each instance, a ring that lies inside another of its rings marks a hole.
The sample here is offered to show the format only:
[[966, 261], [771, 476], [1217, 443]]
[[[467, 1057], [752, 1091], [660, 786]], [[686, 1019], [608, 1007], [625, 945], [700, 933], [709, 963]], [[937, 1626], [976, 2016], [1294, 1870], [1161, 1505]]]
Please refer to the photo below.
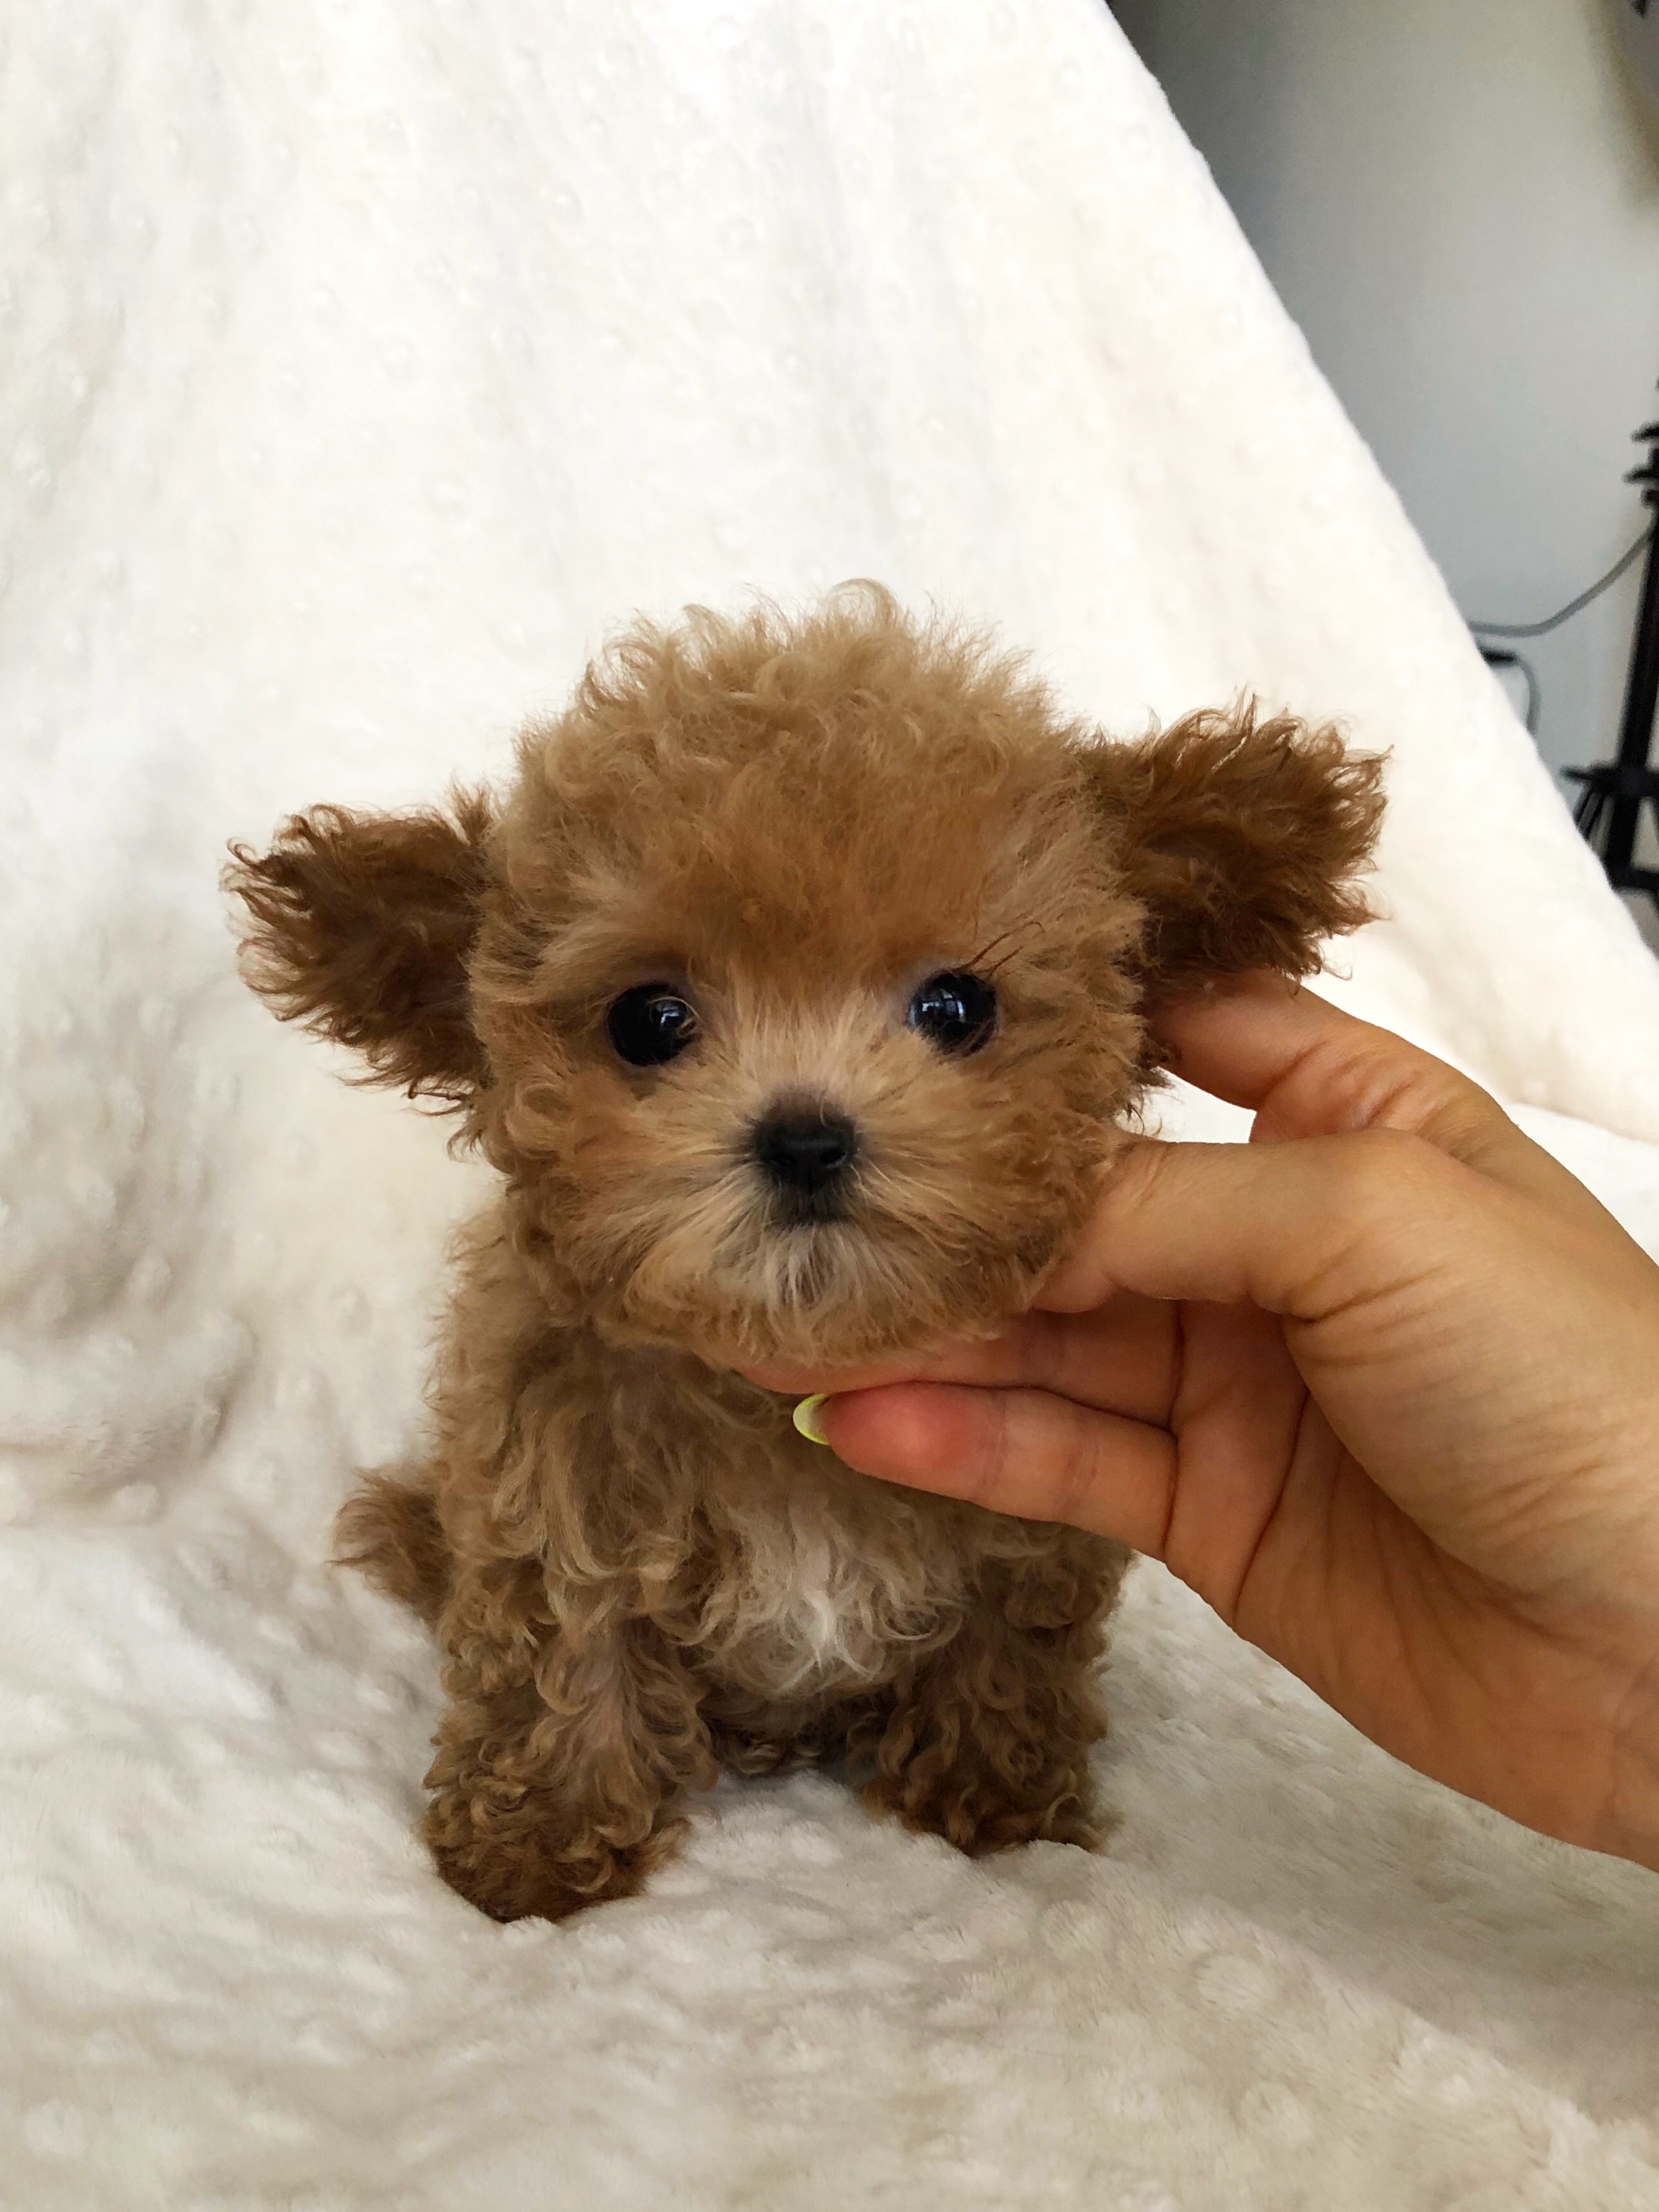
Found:
[[1398, 1759], [1659, 1867], [1659, 1267], [1310, 991], [1159, 1033], [1248, 1146], [1130, 1144], [991, 1343], [754, 1380], [830, 1391], [847, 1467], [1164, 1559]]

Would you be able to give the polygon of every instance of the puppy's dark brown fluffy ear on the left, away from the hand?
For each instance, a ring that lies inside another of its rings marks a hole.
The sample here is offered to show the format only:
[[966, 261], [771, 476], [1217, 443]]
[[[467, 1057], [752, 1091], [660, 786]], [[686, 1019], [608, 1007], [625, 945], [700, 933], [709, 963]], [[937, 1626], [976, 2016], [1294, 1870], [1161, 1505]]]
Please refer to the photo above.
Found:
[[491, 818], [484, 792], [456, 790], [447, 812], [312, 807], [265, 854], [232, 845], [246, 982], [283, 1022], [363, 1053], [367, 1082], [465, 1106], [487, 1075], [467, 958]]

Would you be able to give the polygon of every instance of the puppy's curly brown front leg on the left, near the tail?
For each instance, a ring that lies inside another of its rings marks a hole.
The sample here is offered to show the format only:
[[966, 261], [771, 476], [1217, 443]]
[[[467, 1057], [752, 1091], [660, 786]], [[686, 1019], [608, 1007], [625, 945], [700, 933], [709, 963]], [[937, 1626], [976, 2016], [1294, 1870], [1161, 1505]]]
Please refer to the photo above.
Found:
[[[717, 1774], [677, 1652], [650, 1621], [571, 1632], [504, 1606], [500, 1568], [462, 1571], [445, 1613], [453, 1699], [427, 1774], [438, 1871], [493, 1920], [562, 1920], [639, 1889]], [[495, 1632], [491, 1632], [495, 1630]]]

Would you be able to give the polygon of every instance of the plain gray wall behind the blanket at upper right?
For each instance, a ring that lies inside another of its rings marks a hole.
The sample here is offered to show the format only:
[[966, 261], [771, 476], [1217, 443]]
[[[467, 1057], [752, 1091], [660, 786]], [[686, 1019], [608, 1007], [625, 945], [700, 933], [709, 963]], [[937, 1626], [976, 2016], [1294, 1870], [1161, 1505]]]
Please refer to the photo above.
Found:
[[[1610, 0], [1119, 0], [1467, 615], [1531, 619], [1641, 529], [1659, 131]], [[1613, 745], [1635, 577], [1524, 646], [1553, 765]]]

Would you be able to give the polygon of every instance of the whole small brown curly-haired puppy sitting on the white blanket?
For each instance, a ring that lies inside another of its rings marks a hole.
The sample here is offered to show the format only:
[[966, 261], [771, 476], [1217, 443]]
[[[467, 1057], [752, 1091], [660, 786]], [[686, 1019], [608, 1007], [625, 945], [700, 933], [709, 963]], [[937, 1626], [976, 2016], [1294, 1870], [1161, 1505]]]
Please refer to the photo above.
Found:
[[1026, 1305], [1155, 1075], [1148, 998], [1314, 969], [1378, 812], [1329, 730], [1099, 743], [867, 586], [633, 628], [500, 803], [234, 847], [252, 987], [502, 1172], [431, 1453], [341, 1515], [442, 1641], [462, 1896], [637, 1889], [719, 1765], [849, 1756], [964, 1851], [1093, 1840], [1121, 1548], [854, 1475], [732, 1369]]

